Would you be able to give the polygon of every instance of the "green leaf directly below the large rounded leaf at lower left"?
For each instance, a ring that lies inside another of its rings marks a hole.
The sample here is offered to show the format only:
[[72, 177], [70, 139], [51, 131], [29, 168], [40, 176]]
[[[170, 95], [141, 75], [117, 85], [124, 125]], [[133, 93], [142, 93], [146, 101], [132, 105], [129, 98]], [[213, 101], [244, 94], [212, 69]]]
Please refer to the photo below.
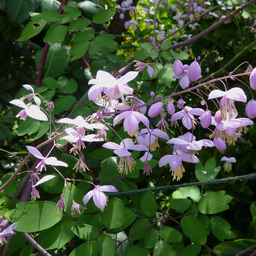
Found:
[[59, 221], [51, 228], [40, 232], [38, 243], [46, 250], [60, 249], [74, 237], [75, 234], [71, 231], [71, 228], [75, 225], [77, 225], [77, 222], [73, 220]]

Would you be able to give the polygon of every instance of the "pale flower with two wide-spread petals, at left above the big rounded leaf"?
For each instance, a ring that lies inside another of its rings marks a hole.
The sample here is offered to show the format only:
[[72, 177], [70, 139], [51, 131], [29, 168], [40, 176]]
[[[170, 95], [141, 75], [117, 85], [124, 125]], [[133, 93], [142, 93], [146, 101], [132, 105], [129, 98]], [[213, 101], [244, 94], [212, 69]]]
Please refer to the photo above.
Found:
[[34, 155], [38, 159], [42, 159], [36, 166], [37, 171], [41, 172], [42, 168], [46, 170], [45, 165], [55, 165], [55, 166], [65, 166], [68, 167], [68, 165], [62, 161], [58, 161], [56, 157], [46, 157], [42, 156], [42, 154], [37, 150], [35, 147], [32, 146], [26, 146], [28, 151]]

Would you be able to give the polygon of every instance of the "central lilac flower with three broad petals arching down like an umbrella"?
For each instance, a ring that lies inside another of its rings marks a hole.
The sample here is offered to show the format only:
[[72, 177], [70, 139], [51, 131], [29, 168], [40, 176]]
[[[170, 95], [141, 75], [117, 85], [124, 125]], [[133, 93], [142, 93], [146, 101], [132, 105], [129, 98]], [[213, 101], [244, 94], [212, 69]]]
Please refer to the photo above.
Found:
[[136, 137], [138, 135], [138, 125], [140, 122], [142, 122], [146, 127], [149, 127], [148, 119], [137, 111], [129, 110], [119, 114], [114, 119], [114, 126], [122, 119], [124, 119], [124, 130], [127, 131], [130, 136]]

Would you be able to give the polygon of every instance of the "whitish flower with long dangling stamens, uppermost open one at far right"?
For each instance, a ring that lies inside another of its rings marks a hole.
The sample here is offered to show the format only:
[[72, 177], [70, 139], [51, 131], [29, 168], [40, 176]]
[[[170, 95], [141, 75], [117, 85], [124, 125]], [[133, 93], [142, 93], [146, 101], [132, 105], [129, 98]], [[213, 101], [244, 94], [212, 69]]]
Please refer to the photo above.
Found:
[[241, 88], [235, 87], [228, 91], [213, 90], [210, 92], [208, 100], [222, 97], [220, 100], [220, 115], [223, 120], [232, 118], [233, 114], [237, 114], [234, 104], [235, 101], [246, 102], [247, 98]]

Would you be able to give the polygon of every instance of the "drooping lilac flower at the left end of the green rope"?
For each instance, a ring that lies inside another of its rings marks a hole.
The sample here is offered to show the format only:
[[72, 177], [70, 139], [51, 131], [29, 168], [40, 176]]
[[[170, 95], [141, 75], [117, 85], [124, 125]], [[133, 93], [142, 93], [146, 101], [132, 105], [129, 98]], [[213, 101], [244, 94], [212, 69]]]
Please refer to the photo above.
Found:
[[83, 198], [83, 203], [86, 205], [90, 198], [93, 198], [94, 204], [104, 210], [105, 206], [107, 205], [108, 197], [104, 194], [104, 192], [117, 192], [118, 190], [111, 185], [100, 186], [97, 185], [93, 190], [90, 190]]

